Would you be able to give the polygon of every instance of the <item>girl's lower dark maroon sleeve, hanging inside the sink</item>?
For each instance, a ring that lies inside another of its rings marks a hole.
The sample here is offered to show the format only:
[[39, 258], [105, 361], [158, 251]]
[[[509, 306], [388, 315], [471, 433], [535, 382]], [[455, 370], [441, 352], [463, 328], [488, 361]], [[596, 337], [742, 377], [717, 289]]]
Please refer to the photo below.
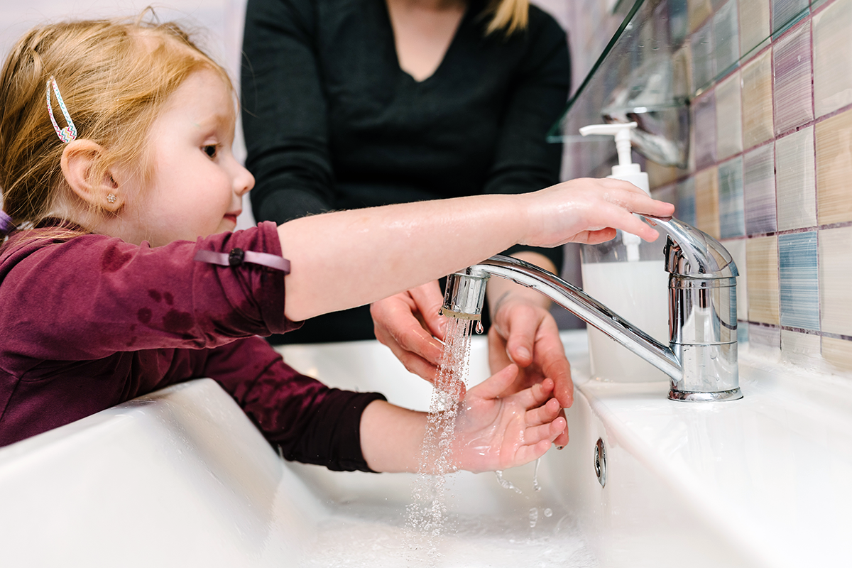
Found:
[[360, 420], [379, 393], [326, 387], [285, 364], [260, 337], [211, 350], [204, 370], [229, 393], [287, 460], [366, 471]]

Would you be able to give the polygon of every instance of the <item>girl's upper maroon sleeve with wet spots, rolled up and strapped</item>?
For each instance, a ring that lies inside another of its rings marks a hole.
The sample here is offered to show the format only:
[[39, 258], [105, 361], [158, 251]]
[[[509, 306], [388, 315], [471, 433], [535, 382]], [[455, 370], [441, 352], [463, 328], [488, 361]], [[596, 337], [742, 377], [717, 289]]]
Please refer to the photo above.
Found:
[[84, 361], [217, 347], [296, 327], [284, 315], [283, 272], [193, 260], [199, 250], [234, 249], [280, 255], [274, 223], [157, 248], [103, 235], [38, 246], [3, 283], [5, 298], [35, 307], [5, 322], [14, 351], [33, 360]]

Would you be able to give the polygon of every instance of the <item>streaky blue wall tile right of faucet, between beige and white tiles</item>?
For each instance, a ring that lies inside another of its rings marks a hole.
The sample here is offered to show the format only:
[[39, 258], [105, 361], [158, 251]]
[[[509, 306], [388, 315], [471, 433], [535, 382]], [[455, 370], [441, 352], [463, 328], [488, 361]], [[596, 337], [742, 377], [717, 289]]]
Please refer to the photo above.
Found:
[[816, 232], [778, 237], [781, 325], [820, 330]]

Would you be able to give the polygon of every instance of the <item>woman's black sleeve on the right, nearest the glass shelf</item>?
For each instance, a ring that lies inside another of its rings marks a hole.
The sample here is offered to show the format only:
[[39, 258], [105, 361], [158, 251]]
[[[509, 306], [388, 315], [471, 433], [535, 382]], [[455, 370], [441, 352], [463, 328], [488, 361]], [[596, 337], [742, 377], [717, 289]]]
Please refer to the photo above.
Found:
[[[571, 59], [565, 32], [556, 20], [530, 6], [527, 57], [501, 125], [484, 193], [525, 193], [559, 182], [562, 145], [547, 141], [565, 109]], [[562, 250], [516, 245], [507, 254], [534, 250], [561, 268]]]

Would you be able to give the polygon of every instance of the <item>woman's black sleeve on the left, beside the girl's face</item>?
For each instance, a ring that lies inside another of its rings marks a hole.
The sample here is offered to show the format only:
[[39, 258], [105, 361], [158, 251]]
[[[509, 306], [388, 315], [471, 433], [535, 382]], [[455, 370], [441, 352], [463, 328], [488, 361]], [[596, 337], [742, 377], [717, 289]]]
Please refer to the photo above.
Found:
[[305, 0], [250, 0], [241, 71], [242, 118], [257, 219], [284, 223], [331, 209], [325, 93]]

